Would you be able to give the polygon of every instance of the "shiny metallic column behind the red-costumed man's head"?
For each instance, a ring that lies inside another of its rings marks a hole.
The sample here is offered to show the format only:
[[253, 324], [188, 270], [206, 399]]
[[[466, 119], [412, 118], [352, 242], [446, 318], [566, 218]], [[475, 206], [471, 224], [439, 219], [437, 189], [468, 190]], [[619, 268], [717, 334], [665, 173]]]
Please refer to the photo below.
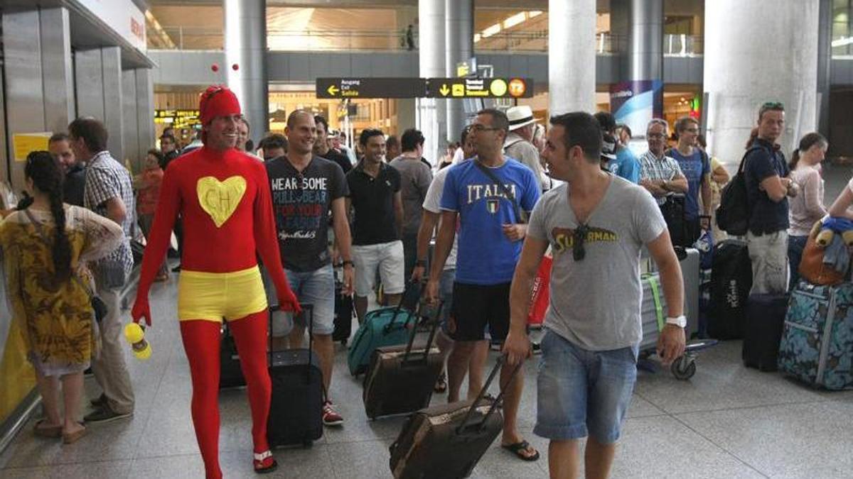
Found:
[[[266, 0], [224, 0], [225, 66], [243, 114], [258, 141], [270, 129], [266, 56]], [[238, 69], [233, 68], [234, 65]]]

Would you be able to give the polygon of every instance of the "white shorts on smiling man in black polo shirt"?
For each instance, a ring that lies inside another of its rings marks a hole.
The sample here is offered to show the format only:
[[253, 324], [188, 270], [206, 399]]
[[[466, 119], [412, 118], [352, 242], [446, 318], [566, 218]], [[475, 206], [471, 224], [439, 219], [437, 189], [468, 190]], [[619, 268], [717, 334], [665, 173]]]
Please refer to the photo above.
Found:
[[367, 297], [373, 291], [376, 268], [379, 268], [385, 294], [400, 294], [406, 288], [403, 278], [403, 241], [352, 245], [352, 263], [356, 266], [356, 296]]

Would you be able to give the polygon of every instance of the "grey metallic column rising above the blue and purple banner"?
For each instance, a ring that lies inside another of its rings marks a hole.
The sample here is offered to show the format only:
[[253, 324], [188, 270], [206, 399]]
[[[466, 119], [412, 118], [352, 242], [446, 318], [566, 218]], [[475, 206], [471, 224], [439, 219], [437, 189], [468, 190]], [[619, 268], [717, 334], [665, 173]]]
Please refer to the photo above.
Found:
[[664, 78], [664, 1], [630, 0], [628, 80]]

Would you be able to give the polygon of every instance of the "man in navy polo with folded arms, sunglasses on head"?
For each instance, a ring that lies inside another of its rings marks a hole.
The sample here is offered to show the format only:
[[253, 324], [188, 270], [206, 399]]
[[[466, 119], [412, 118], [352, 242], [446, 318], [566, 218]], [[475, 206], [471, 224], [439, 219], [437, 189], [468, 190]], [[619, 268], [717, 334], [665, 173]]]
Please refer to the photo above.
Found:
[[776, 143], [784, 129], [785, 107], [764, 103], [758, 110], [758, 137], [744, 159], [751, 294], [783, 293], [788, 287], [788, 197], [797, 196], [798, 188]]

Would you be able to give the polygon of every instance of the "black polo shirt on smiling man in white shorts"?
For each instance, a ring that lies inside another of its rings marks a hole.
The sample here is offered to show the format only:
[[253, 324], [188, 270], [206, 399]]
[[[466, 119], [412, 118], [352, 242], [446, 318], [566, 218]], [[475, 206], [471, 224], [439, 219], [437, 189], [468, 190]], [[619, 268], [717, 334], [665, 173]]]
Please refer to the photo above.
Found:
[[346, 174], [349, 198], [355, 211], [353, 245], [379, 245], [399, 240], [394, 216], [394, 193], [400, 191], [400, 174], [382, 162], [374, 178], [364, 171], [363, 161]]

